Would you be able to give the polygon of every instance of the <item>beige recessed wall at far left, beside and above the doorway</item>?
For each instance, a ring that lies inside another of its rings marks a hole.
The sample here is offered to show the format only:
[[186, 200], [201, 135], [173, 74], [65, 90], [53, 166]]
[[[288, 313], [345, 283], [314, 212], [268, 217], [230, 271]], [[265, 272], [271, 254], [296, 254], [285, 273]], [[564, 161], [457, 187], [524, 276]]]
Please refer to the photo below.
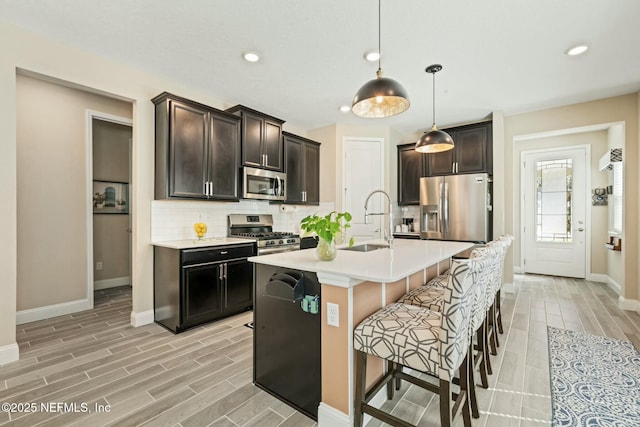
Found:
[[17, 309], [87, 298], [86, 110], [131, 104], [17, 76]]

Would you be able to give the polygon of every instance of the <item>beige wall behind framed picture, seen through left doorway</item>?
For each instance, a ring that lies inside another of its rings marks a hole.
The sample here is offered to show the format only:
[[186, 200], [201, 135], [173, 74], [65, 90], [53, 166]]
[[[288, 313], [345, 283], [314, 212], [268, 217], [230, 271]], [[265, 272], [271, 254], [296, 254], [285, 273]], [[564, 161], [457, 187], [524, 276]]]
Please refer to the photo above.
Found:
[[[94, 180], [129, 182], [130, 138], [130, 126], [93, 120]], [[129, 215], [93, 215], [93, 278], [98, 282], [96, 288], [130, 283], [128, 228]], [[102, 263], [102, 270], [96, 268], [98, 262]]]

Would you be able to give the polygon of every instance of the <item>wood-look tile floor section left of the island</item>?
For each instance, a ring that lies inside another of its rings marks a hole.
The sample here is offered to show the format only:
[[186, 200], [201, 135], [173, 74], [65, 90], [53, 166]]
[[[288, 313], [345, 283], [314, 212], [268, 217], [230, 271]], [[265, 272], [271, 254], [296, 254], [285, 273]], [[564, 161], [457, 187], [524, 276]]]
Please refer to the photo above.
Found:
[[252, 384], [251, 312], [179, 335], [133, 328], [130, 314], [121, 287], [96, 292], [93, 310], [18, 325], [20, 360], [0, 367], [0, 403], [36, 410], [0, 411], [0, 425], [315, 425]]

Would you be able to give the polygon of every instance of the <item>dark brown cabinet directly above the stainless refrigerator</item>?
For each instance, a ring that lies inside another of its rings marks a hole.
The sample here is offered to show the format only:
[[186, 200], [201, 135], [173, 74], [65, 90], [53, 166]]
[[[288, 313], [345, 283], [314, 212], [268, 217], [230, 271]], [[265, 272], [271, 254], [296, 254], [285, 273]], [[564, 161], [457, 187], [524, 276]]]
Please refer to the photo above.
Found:
[[455, 147], [442, 153], [427, 154], [427, 176], [465, 173], [493, 173], [491, 122], [445, 129]]

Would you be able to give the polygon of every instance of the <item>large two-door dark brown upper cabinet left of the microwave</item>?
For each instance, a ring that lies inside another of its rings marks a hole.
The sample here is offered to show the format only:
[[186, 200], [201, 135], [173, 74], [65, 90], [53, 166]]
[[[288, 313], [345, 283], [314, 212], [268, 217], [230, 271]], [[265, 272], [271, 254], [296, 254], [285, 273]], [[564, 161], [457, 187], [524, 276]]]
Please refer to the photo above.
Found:
[[152, 101], [155, 198], [238, 201], [240, 118], [167, 92]]

